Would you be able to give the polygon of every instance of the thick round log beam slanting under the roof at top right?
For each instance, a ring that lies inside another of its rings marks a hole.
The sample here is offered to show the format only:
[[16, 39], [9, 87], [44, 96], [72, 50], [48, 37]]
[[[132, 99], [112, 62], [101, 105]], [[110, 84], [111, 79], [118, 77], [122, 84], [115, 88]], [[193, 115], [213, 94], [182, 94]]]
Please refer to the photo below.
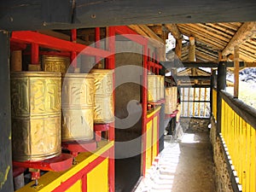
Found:
[[256, 22], [245, 22], [242, 26], [238, 29], [236, 34], [231, 38], [229, 44], [223, 49], [222, 55], [228, 55], [232, 53], [235, 46], [240, 46], [248, 38], [253, 37], [253, 34], [256, 32]]

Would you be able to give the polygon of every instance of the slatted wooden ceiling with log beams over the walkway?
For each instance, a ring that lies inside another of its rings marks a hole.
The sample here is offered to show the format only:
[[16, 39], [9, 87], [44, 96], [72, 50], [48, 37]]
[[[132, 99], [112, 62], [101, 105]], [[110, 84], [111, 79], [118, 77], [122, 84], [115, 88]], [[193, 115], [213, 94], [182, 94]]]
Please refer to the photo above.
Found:
[[[256, 22], [131, 25], [137, 33], [166, 42], [168, 32], [176, 39], [195, 38], [196, 61], [218, 62], [219, 55], [233, 60], [235, 45], [240, 47], [240, 61], [256, 61]], [[183, 36], [184, 35], [184, 36]], [[188, 61], [189, 41], [183, 41], [181, 61]]]

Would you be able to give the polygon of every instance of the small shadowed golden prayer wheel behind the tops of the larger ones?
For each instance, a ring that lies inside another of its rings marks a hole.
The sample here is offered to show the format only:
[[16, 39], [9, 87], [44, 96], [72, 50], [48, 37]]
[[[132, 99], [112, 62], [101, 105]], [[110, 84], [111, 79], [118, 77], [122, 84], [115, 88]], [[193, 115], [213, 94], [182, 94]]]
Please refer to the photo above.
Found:
[[67, 73], [70, 58], [67, 56], [43, 55], [42, 64], [45, 72]]

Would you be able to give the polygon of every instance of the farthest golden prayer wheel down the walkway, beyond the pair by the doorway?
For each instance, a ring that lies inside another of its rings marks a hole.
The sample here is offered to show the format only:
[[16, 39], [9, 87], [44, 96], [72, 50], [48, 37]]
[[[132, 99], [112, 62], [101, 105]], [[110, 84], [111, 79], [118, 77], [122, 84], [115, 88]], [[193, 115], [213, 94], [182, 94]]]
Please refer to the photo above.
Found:
[[177, 109], [177, 87], [166, 88], [165, 113], [172, 114]]

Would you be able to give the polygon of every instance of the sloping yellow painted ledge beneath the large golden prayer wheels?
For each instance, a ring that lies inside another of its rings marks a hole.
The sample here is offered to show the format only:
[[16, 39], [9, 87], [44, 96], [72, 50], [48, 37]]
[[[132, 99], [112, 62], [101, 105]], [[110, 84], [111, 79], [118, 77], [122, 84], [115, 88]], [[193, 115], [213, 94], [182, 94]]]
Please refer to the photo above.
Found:
[[81, 153], [76, 158], [77, 165], [73, 165], [70, 169], [65, 172], [47, 172], [38, 179], [38, 186], [32, 187], [34, 182], [26, 184], [21, 189], [16, 190], [17, 192], [49, 192], [61, 185], [61, 183], [67, 181], [69, 177], [72, 177], [77, 172], [81, 171], [85, 166], [89, 165], [90, 162], [96, 160], [101, 154], [106, 152], [109, 148], [113, 147], [113, 142], [102, 141], [98, 143], [98, 148], [95, 153]]

